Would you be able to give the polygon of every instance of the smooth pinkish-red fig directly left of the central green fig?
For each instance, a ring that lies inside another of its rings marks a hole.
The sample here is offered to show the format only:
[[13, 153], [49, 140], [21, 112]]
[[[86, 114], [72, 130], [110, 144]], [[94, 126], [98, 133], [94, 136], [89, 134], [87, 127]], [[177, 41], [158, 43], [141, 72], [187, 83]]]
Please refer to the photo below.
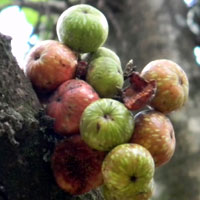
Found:
[[98, 99], [98, 94], [83, 80], [71, 79], [60, 85], [47, 105], [47, 114], [55, 118], [55, 132], [77, 133], [83, 111]]

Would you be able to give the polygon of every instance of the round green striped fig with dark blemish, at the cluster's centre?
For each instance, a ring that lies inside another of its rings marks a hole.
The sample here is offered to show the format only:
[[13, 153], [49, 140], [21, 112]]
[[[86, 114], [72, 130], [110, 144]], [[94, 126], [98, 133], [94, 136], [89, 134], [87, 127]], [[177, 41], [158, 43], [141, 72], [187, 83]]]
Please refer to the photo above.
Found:
[[109, 151], [130, 140], [134, 130], [131, 112], [119, 101], [100, 99], [83, 112], [80, 132], [83, 140], [100, 151]]

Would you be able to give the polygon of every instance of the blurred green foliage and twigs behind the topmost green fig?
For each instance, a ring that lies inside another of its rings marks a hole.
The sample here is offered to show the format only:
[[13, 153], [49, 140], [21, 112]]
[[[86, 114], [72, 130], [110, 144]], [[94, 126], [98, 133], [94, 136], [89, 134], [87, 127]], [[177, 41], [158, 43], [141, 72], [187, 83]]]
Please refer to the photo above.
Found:
[[[118, 12], [120, 11], [120, 5], [117, 1], [106, 2], [103, 0], [92, 1], [92, 0], [29, 0], [29, 1], [11, 1], [11, 0], [1, 0], [0, 10], [11, 6], [18, 5], [22, 11], [25, 13], [27, 21], [33, 25], [33, 34], [37, 34], [41, 40], [44, 39], [57, 39], [56, 35], [56, 22], [58, 16], [68, 7], [80, 4], [88, 3], [94, 5], [104, 13], [108, 11]], [[108, 21], [110, 21], [111, 29], [116, 29], [116, 34], [120, 36], [119, 28], [117, 27], [117, 22], [114, 15], [109, 14], [107, 16]]]

